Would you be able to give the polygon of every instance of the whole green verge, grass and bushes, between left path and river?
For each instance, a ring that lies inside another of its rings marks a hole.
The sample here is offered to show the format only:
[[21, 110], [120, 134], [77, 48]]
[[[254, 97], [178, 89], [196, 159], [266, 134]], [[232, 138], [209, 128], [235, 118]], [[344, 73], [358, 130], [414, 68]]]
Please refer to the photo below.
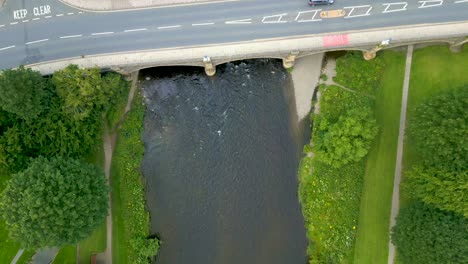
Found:
[[[157, 239], [147, 239], [149, 214], [145, 211], [140, 162], [143, 158], [144, 106], [136, 94], [132, 109], [119, 130], [111, 170], [114, 208], [114, 263], [144, 263], [157, 253]], [[126, 252], [125, 252], [126, 251]]]

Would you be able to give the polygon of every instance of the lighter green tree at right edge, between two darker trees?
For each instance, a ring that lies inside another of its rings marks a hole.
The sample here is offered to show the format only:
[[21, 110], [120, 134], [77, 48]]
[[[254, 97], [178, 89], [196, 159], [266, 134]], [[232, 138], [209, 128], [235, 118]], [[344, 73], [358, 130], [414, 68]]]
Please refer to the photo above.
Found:
[[441, 210], [468, 217], [468, 170], [415, 166], [405, 174], [408, 193]]

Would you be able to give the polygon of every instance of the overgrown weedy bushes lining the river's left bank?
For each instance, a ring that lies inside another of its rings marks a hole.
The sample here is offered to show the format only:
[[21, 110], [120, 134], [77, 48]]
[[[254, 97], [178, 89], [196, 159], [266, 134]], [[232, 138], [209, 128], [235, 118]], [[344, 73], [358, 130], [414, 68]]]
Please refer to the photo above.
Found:
[[114, 168], [119, 177], [119, 192], [124, 208], [122, 218], [127, 240], [128, 263], [148, 263], [158, 253], [159, 240], [148, 239], [149, 214], [145, 211], [140, 162], [143, 158], [143, 114], [141, 97], [135, 96], [132, 109], [119, 131]]

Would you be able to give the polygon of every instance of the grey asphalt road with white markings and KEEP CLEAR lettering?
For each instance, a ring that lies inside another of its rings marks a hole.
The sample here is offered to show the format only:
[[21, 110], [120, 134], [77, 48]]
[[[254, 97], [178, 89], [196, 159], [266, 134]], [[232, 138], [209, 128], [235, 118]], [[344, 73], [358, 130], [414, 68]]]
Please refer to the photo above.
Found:
[[[320, 19], [326, 9], [344, 9], [346, 16]], [[239, 0], [112, 13], [82, 12], [57, 0], [8, 0], [0, 10], [0, 69], [110, 52], [466, 20], [468, 0], [336, 0], [316, 7], [305, 0]]]

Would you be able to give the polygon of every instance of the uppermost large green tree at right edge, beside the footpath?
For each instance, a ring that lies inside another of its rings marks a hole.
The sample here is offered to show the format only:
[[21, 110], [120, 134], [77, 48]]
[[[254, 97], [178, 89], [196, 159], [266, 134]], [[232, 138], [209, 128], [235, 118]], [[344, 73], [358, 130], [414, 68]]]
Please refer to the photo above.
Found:
[[468, 86], [419, 105], [409, 132], [423, 158], [435, 166], [468, 167]]

